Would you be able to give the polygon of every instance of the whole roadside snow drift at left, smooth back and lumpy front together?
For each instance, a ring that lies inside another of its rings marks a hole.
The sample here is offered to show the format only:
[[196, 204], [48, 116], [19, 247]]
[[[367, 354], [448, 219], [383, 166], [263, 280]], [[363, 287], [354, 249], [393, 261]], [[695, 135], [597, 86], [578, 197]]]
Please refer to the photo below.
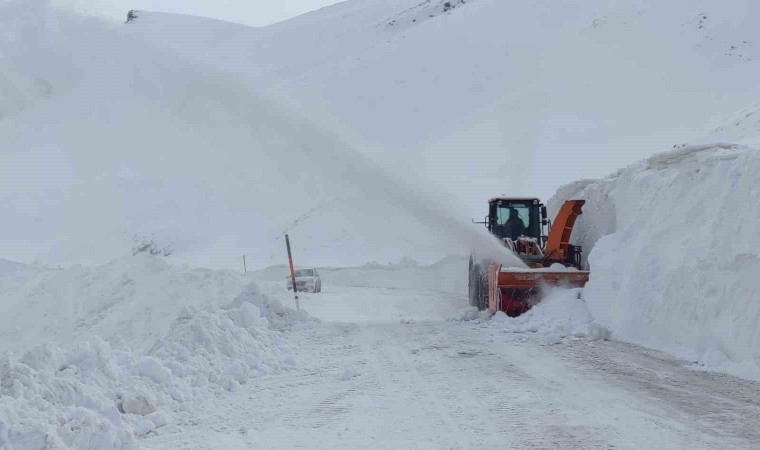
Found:
[[2, 328], [0, 448], [137, 448], [290, 367], [278, 329], [308, 321], [242, 275], [155, 258], [0, 275], [2, 317], [14, 320]]

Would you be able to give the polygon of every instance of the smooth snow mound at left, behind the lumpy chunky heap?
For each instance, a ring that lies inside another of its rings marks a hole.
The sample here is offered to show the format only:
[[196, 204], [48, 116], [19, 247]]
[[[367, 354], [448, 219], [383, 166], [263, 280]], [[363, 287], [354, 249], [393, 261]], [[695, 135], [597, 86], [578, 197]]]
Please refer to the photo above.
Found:
[[[13, 268], [13, 271], [10, 271]], [[115, 348], [146, 351], [182, 308], [229, 302], [250, 278], [191, 269], [145, 255], [96, 268], [0, 265], [0, 351], [39, 342], [74, 344], [97, 335]]]

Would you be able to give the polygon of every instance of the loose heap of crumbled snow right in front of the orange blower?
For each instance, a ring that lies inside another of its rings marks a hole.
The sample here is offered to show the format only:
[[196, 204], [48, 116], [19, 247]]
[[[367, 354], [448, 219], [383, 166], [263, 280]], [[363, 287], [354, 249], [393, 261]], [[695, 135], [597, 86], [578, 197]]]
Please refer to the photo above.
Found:
[[562, 339], [586, 336], [593, 340], [609, 339], [610, 333], [594, 323], [581, 298], [581, 289], [547, 288], [538, 305], [520, 317], [510, 318], [502, 312], [491, 319], [491, 326], [508, 333], [530, 334], [546, 344]]

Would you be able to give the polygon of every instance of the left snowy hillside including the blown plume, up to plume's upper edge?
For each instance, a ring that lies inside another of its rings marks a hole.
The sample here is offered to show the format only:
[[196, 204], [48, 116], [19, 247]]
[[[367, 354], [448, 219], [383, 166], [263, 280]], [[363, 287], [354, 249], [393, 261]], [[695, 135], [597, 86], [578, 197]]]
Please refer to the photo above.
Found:
[[255, 267], [285, 259], [286, 231], [308, 263], [495, 248], [417, 180], [223, 67], [43, 2], [2, 8], [3, 63], [50, 86], [0, 120], [9, 258], [102, 264], [144, 250], [206, 267], [241, 268], [247, 254]]

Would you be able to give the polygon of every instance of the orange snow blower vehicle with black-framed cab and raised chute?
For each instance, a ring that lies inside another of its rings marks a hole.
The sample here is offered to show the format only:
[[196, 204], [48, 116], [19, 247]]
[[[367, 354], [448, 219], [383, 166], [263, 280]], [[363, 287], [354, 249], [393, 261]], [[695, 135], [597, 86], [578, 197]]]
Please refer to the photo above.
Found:
[[[541, 300], [547, 286], [584, 287], [589, 280], [582, 248], [570, 244], [575, 221], [585, 200], [569, 200], [554, 222], [536, 198], [494, 198], [484, 222], [488, 231], [517, 255], [527, 268], [503, 268], [494, 261], [470, 256], [470, 305], [503, 311], [510, 317], [525, 313]], [[549, 229], [548, 236], [544, 234]]]

